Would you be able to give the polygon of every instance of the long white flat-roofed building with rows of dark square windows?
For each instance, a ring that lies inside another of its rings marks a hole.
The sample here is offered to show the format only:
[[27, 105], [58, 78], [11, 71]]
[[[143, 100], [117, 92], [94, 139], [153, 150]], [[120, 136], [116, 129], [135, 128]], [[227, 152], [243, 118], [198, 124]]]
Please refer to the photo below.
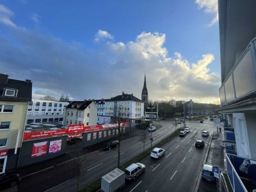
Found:
[[26, 124], [60, 122], [63, 123], [65, 108], [69, 102], [32, 99], [28, 104]]

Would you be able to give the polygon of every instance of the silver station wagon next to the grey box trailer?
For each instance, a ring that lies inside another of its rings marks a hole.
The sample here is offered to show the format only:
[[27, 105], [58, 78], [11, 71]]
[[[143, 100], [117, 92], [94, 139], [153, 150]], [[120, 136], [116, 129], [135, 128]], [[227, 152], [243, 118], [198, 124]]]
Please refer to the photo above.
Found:
[[135, 180], [141, 173], [144, 173], [146, 169], [145, 164], [142, 163], [132, 163], [130, 166], [125, 168], [125, 179]]

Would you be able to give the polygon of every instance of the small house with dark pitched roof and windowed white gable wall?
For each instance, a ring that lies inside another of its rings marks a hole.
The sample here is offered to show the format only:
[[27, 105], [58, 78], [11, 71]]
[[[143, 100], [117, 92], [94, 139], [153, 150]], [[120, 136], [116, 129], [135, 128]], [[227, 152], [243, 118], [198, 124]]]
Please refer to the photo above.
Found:
[[72, 101], [65, 110], [64, 125], [97, 124], [97, 106], [95, 100]]

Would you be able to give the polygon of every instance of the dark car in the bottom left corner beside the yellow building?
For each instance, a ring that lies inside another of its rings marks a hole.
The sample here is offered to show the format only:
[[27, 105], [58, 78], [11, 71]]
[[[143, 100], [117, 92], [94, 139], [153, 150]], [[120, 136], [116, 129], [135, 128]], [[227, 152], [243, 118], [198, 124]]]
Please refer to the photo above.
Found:
[[13, 187], [21, 180], [19, 173], [3, 173], [0, 174], [0, 189]]

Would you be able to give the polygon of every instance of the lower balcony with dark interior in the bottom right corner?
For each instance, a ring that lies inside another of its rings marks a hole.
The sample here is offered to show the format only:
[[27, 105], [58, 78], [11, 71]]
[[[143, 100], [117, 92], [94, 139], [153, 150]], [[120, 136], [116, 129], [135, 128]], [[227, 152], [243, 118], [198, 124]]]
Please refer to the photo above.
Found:
[[256, 189], [256, 160], [226, 154], [228, 179], [233, 191]]

